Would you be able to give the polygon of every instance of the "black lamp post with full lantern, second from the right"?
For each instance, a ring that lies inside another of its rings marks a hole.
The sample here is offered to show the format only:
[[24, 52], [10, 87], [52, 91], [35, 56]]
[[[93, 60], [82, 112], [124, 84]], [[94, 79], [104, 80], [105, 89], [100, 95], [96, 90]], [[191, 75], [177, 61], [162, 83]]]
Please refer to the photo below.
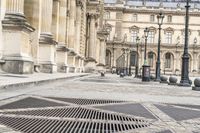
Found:
[[161, 25], [163, 24], [163, 19], [164, 19], [164, 15], [162, 14], [162, 12], [159, 13], [159, 15], [157, 16], [158, 19], [158, 30], [159, 30], [159, 34], [158, 34], [158, 56], [157, 56], [157, 62], [156, 62], [156, 81], [160, 81], [160, 44], [161, 44]]

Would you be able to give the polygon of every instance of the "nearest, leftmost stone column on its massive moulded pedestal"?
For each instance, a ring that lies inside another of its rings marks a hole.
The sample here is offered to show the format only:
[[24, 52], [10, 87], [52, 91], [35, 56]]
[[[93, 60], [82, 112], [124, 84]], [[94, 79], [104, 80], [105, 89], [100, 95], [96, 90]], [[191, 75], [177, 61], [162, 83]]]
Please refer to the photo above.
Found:
[[30, 46], [30, 34], [34, 28], [24, 16], [24, 0], [6, 0], [6, 14], [2, 21], [4, 35], [6, 72], [25, 74], [33, 73], [33, 59]]

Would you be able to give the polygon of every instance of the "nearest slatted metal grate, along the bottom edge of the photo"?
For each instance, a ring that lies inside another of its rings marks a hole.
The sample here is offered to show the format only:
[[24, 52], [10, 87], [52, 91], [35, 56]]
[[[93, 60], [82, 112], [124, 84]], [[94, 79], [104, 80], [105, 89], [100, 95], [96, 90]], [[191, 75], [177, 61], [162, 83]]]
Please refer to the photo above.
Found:
[[140, 129], [148, 125], [66, 121], [0, 116], [0, 123], [23, 133], [116, 133]]

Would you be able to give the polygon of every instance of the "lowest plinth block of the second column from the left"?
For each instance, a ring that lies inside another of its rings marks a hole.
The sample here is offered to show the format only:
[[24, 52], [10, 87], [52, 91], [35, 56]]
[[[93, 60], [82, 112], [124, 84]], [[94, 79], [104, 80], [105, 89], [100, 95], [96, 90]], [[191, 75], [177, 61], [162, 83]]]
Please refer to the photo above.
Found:
[[55, 64], [41, 64], [40, 72], [55, 73], [55, 72], [57, 72], [57, 66]]

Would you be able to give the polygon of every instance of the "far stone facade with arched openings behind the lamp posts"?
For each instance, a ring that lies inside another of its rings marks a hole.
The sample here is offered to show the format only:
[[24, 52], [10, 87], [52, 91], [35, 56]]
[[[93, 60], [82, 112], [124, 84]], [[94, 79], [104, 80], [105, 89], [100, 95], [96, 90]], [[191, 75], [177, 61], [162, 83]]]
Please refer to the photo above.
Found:
[[[161, 72], [180, 74], [184, 50], [185, 2], [181, 0], [105, 0], [106, 66], [135, 69], [144, 63], [144, 29], [149, 28], [147, 61], [155, 72], [158, 46], [157, 15], [165, 15], [161, 31]], [[200, 73], [200, 5], [190, 2], [189, 72]], [[140, 38], [137, 52], [137, 36]]]

